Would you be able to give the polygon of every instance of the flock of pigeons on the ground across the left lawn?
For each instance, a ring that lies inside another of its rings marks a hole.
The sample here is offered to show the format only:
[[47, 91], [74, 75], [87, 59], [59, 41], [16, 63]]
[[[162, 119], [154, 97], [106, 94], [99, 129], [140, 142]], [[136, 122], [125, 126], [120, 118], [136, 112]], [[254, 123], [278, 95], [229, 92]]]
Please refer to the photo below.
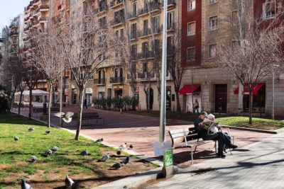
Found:
[[[35, 127], [30, 127], [28, 129], [28, 132], [33, 132], [33, 130], [35, 130]], [[50, 134], [50, 130], [47, 130], [45, 132], [45, 134]], [[19, 137], [16, 136], [13, 139], [15, 141], [18, 141]], [[97, 139], [95, 142], [103, 142], [103, 141], [104, 141], [104, 139], [102, 138], [102, 139]], [[127, 148], [127, 143], [121, 144], [119, 146], [119, 151], [116, 151], [116, 154], [118, 156], [120, 156], [121, 155], [121, 151], [124, 151], [124, 149], [126, 149], [126, 148]], [[133, 144], [130, 144], [129, 148], [133, 149]], [[53, 147], [52, 149], [48, 149], [47, 151], [45, 151], [45, 156], [52, 155], [53, 152], [58, 151], [58, 149], [59, 148], [57, 146]], [[89, 154], [89, 151], [87, 149], [85, 149], [84, 151], [81, 152], [82, 156], [86, 156], [87, 154]], [[107, 161], [107, 160], [109, 160], [109, 158], [110, 158], [109, 153], [107, 153], [104, 156], [102, 156], [102, 159], [100, 159], [99, 161]], [[35, 162], [35, 161], [36, 161], [36, 156], [31, 156], [31, 162]], [[124, 165], [126, 165], [128, 163], [129, 163], [129, 156], [126, 157], [126, 159], [122, 160], [121, 162], [112, 165], [111, 168], [119, 169], [119, 168], [121, 168], [122, 166], [124, 166]], [[72, 188], [72, 185], [74, 185], [74, 183], [75, 182], [72, 181], [72, 179], [69, 178], [69, 176], [67, 175], [66, 178], [65, 178], [65, 187], [66, 188]], [[25, 179], [22, 179], [21, 180], [21, 189], [33, 189], [33, 188], [31, 187], [31, 185], [26, 183]]]

